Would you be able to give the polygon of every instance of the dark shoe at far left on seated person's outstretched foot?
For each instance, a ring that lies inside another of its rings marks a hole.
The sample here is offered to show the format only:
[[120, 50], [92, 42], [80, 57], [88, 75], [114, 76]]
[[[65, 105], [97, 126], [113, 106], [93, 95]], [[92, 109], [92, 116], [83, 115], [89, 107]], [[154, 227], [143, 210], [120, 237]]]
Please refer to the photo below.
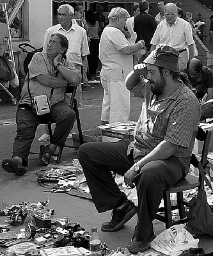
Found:
[[16, 159], [5, 158], [2, 161], [1, 166], [6, 172], [13, 172], [17, 176], [22, 176], [26, 173], [24, 166], [22, 166], [22, 164]]

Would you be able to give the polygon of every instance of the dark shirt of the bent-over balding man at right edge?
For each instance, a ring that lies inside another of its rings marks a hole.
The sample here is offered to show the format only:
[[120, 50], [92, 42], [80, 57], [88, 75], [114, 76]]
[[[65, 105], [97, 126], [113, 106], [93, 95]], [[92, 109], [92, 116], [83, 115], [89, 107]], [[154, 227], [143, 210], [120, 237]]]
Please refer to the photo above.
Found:
[[198, 99], [202, 99], [205, 93], [207, 93], [207, 89], [213, 87], [213, 70], [209, 67], [203, 66], [202, 75], [199, 82], [194, 81], [192, 77], [189, 77], [189, 81], [193, 88], [196, 88], [196, 97]]

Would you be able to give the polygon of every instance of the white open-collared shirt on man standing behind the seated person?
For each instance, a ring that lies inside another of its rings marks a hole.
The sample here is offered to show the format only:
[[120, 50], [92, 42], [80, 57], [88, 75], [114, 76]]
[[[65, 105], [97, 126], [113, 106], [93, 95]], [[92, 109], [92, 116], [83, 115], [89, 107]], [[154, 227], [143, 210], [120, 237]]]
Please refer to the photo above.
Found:
[[62, 34], [68, 39], [68, 51], [67, 51], [67, 60], [72, 63], [83, 65], [81, 56], [86, 56], [90, 53], [89, 45], [86, 35], [86, 30], [81, 28], [80, 26], [72, 23], [71, 28], [66, 31], [61, 24], [57, 24], [45, 32], [44, 35], [44, 44], [43, 51], [47, 51], [47, 44], [49, 42], [49, 38], [55, 33]]

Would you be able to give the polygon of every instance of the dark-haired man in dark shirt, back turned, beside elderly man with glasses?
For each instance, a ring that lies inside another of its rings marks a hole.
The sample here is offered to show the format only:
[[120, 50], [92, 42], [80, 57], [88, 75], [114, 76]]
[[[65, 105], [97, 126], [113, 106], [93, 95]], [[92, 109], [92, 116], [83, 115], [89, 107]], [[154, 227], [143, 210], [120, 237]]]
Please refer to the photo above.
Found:
[[157, 23], [154, 17], [148, 14], [149, 4], [147, 1], [139, 3], [139, 8], [141, 13], [134, 19], [134, 32], [137, 33], [136, 43], [141, 39], [145, 41], [146, 54], [141, 56], [139, 60], [139, 63], [141, 63], [150, 54], [150, 41], [157, 28]]

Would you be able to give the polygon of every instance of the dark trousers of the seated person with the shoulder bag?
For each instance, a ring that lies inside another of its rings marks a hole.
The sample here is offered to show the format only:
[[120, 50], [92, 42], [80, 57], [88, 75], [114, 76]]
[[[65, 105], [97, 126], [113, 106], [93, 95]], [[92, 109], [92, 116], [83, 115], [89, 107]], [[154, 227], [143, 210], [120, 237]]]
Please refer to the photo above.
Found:
[[75, 112], [65, 102], [58, 102], [51, 106], [51, 112], [47, 115], [37, 116], [30, 108], [22, 108], [20, 105], [16, 113], [17, 135], [13, 143], [13, 156], [22, 158], [23, 166], [28, 166], [28, 155], [31, 144], [35, 138], [35, 132], [42, 121], [56, 123], [50, 143], [63, 147], [68, 134], [75, 123]]

